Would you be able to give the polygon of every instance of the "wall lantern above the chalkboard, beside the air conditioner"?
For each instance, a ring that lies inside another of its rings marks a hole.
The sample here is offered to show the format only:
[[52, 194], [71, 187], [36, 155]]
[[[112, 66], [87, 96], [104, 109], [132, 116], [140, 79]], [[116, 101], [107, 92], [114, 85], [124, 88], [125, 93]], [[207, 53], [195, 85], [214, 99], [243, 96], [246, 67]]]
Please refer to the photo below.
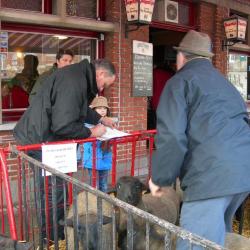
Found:
[[[155, 0], [124, 0], [127, 22], [125, 23], [125, 37], [128, 32], [138, 30], [142, 25], [151, 23]], [[130, 28], [133, 26], [132, 28]]]

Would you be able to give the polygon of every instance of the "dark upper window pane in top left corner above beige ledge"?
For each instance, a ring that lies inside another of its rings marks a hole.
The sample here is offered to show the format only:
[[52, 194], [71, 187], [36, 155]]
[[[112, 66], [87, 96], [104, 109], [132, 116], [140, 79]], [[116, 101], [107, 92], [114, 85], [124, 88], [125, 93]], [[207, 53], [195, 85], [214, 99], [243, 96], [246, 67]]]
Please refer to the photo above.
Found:
[[41, 12], [42, 2], [42, 0], [1, 0], [1, 7]]

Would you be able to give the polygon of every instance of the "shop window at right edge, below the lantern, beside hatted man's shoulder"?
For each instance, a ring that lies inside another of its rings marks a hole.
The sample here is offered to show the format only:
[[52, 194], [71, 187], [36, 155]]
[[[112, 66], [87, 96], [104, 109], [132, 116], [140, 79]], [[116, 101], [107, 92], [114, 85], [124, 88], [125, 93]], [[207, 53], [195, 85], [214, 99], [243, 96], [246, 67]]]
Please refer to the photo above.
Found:
[[244, 100], [247, 100], [247, 61], [247, 55], [229, 54], [228, 79], [237, 88]]

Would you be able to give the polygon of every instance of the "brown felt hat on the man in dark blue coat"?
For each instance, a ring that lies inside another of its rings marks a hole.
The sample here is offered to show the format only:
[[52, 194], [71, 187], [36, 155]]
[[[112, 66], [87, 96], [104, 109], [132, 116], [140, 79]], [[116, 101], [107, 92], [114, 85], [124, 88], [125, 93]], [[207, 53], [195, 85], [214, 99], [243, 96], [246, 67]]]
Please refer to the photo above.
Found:
[[201, 32], [190, 30], [183, 37], [178, 47], [174, 47], [178, 51], [188, 52], [191, 54], [212, 57], [212, 43], [210, 37]]

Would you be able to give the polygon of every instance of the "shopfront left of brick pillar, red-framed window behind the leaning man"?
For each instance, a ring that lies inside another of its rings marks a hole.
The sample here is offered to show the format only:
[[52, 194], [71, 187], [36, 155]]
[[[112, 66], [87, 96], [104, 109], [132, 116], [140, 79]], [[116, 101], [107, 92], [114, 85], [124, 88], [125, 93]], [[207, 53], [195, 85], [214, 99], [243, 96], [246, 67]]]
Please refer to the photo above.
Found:
[[[38, 58], [38, 74], [52, 67], [59, 49], [71, 50], [74, 61], [103, 57], [104, 32], [114, 25], [101, 19], [103, 1], [1, 2], [1, 127], [13, 128], [29, 103], [5, 91], [24, 67], [24, 57]], [[86, 11], [88, 10], [88, 11]], [[13, 98], [15, 100], [13, 100]], [[11, 124], [10, 124], [11, 123]]]

